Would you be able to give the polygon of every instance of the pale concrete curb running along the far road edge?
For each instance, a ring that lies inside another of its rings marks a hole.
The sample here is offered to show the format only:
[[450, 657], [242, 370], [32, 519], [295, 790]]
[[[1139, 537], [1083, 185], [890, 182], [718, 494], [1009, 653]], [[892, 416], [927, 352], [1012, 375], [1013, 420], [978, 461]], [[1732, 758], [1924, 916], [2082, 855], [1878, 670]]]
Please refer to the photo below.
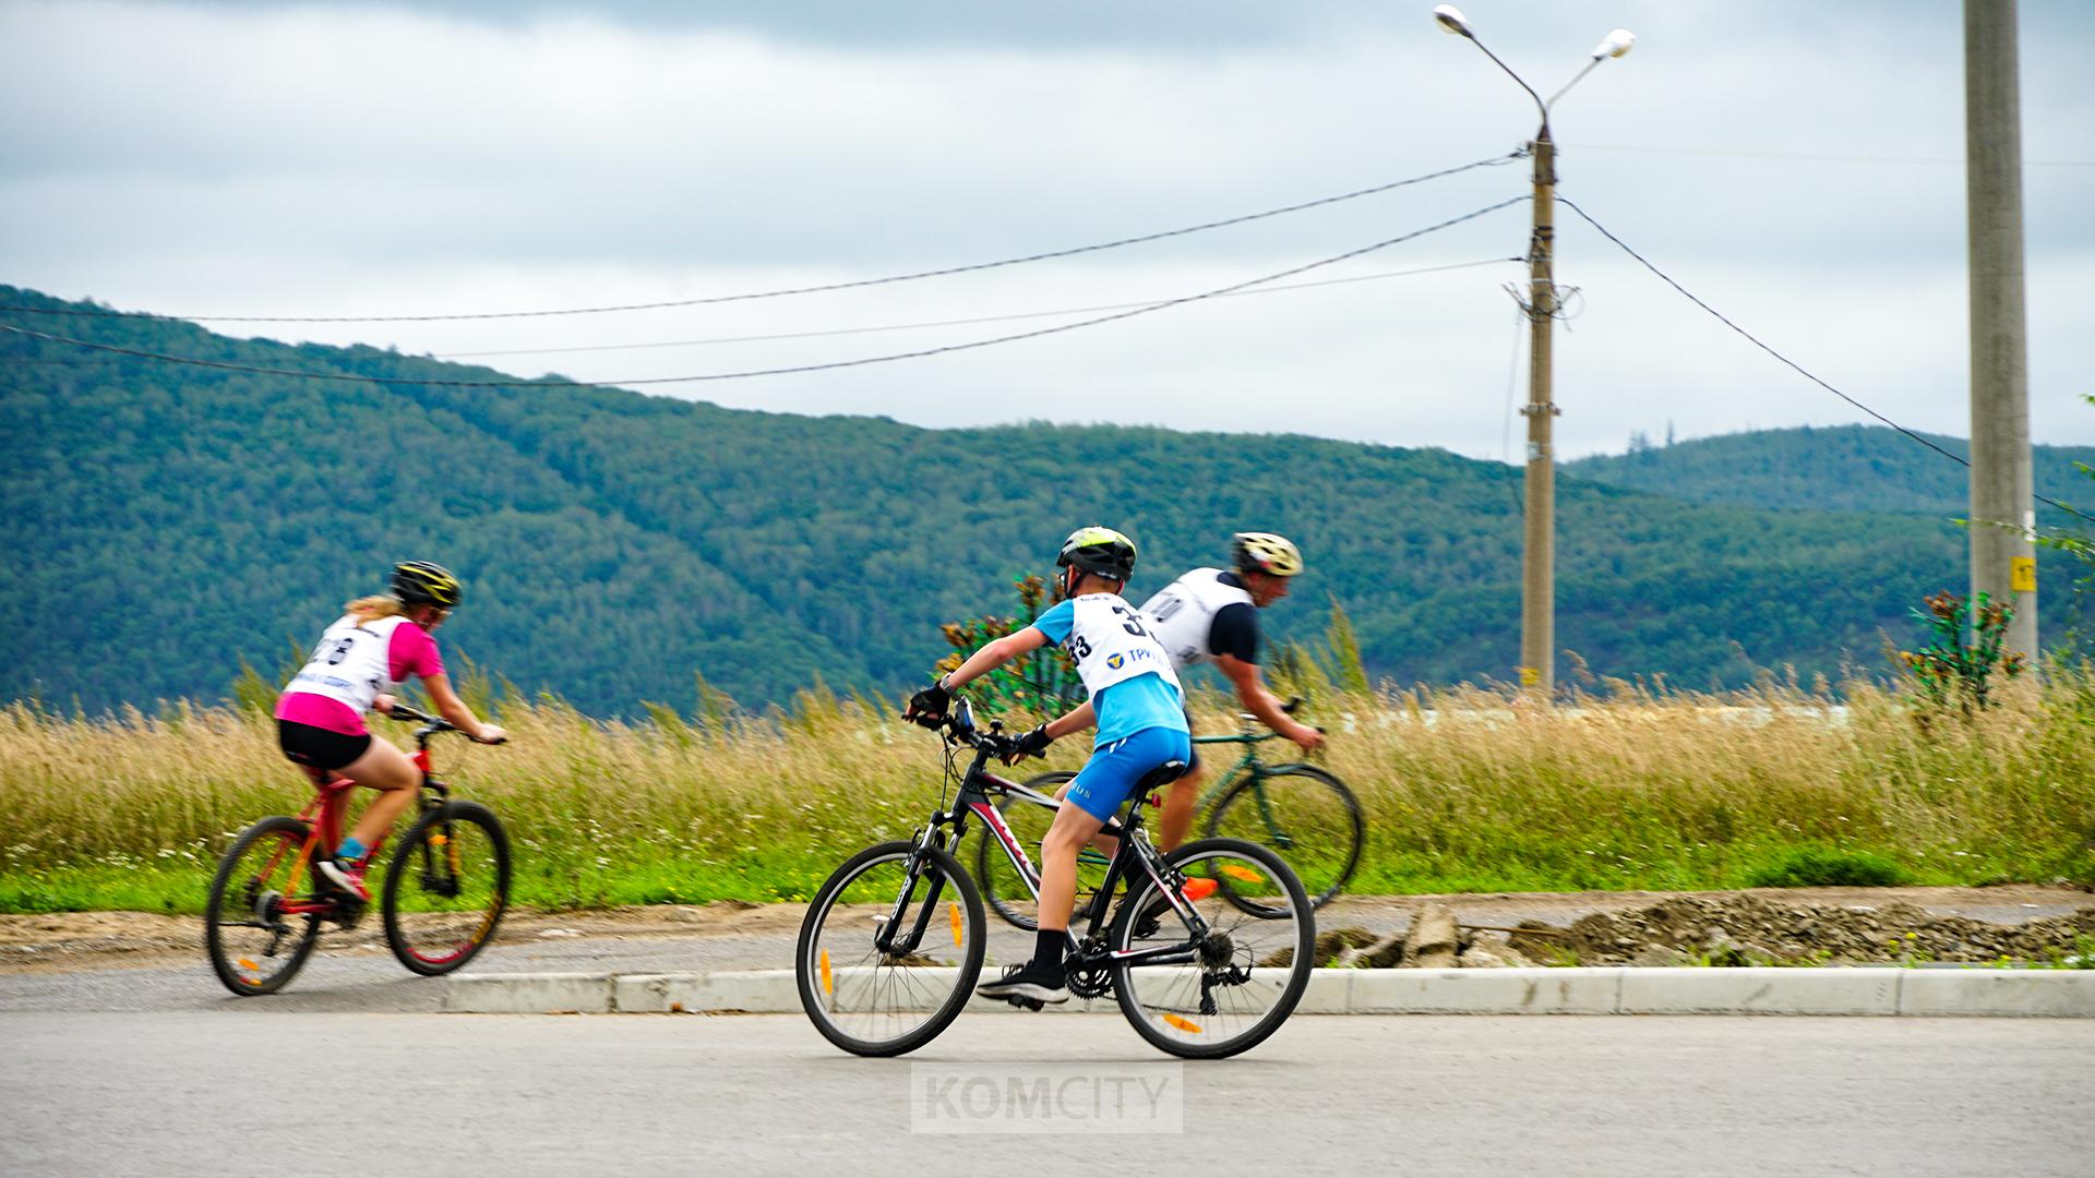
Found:
[[[926, 970], [930, 973], [930, 970]], [[792, 970], [484, 973], [444, 981], [457, 1015], [796, 1015]], [[968, 1010], [1016, 1012], [1006, 1002]], [[1073, 1000], [1073, 1015], [1119, 1010]], [[1320, 968], [1301, 1015], [1965, 1015], [2095, 1019], [2095, 970]]]

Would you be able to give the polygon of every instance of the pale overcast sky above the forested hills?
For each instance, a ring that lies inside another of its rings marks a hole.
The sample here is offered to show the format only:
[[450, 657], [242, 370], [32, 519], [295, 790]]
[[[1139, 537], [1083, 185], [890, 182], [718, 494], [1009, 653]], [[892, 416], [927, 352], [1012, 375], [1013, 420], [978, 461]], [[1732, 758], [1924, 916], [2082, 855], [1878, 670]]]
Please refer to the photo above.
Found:
[[[704, 298], [1085, 245], [1504, 155], [1534, 105], [1399, 2], [0, 0], [0, 281], [172, 314]], [[1967, 432], [1957, 0], [1471, 0], [1548, 94], [1563, 195], [1902, 423]], [[2095, 4], [2024, 0], [2030, 402], [2095, 442]], [[1527, 191], [1525, 161], [987, 275], [633, 314], [253, 327], [536, 377], [823, 363], [1242, 283]], [[1525, 203], [1295, 281], [1504, 260]], [[1567, 455], [1860, 413], [1569, 210]], [[1291, 430], [1506, 455], [1513, 262], [1211, 300], [1043, 340], [649, 392], [926, 426]], [[1521, 386], [1525, 394], [1525, 384]], [[1925, 455], [1921, 455], [1925, 459]]]

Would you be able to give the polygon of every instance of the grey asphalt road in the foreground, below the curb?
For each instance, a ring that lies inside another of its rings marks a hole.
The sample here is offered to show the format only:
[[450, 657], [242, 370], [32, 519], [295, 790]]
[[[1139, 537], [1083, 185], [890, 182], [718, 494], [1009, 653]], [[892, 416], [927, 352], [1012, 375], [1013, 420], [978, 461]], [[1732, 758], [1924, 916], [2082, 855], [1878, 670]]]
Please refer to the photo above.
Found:
[[[863, 1061], [796, 1017], [17, 1012], [0, 1172], [2082, 1176], [2091, 1052], [2091, 1021], [1299, 1017], [1173, 1071], [1112, 1017], [962, 1019]], [[1077, 1094], [1058, 1128], [1146, 1132], [911, 1132], [913, 1100], [928, 1128], [1018, 1124], [953, 1075], [1045, 1075], [1062, 1113]], [[1129, 1077], [1182, 1132], [1083, 1105]]]

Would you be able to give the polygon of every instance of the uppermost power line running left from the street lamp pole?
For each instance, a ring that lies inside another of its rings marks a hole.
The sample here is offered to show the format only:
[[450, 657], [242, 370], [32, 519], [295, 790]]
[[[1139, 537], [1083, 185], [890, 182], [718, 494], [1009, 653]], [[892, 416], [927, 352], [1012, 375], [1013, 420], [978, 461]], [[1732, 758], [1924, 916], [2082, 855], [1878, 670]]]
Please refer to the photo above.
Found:
[[1163, 233], [1144, 233], [1140, 237], [1121, 237], [1115, 241], [1100, 241], [1096, 245], [1077, 245], [1071, 249], [1048, 249], [1041, 254], [1027, 254], [1020, 258], [1001, 258], [995, 262], [972, 262], [966, 266], [943, 266], [936, 270], [916, 270], [909, 275], [888, 275], [882, 279], [853, 279], [848, 283], [821, 283], [813, 287], [784, 287], [769, 291], [746, 291], [731, 296], [710, 296], [710, 298], [685, 298], [670, 302], [629, 302], [618, 306], [572, 306], [559, 310], [486, 310], [486, 312], [461, 312], [461, 314], [168, 314], [168, 312], [124, 312], [124, 310], [103, 310], [103, 308], [40, 308], [40, 306], [0, 306], [0, 312], [25, 312], [25, 314], [73, 314], [73, 317], [145, 317], [145, 319], [184, 319], [191, 323], [453, 323], [461, 319], [547, 319], [555, 314], [612, 314], [624, 310], [670, 310], [679, 306], [712, 306], [723, 302], [750, 302], [760, 298], [786, 298], [823, 291], [851, 291], [863, 287], [882, 287], [890, 283], [913, 283], [918, 279], [943, 279], [949, 275], [972, 275], [978, 270], [995, 270], [1001, 266], [1020, 266], [1024, 262], [1045, 262], [1050, 258], [1075, 258], [1077, 254], [1096, 254], [1100, 249], [1119, 249], [1123, 245], [1144, 245], [1150, 241], [1165, 241], [1167, 237], [1186, 237], [1188, 233], [1205, 233], [1209, 228], [1228, 228], [1232, 224], [1249, 224], [1253, 220], [1265, 220], [1272, 216], [1284, 216], [1291, 212], [1303, 212], [1324, 205], [1335, 205], [1341, 201], [1353, 201], [1360, 197], [1372, 197], [1379, 193], [1389, 193], [1395, 189], [1406, 189], [1410, 184], [1423, 184], [1427, 180], [1439, 180], [1443, 176], [1454, 176], [1458, 172], [1471, 172], [1475, 168], [1496, 168], [1500, 163], [1510, 163], [1523, 157], [1527, 151], [1513, 151], [1508, 155], [1494, 155], [1490, 159], [1477, 159], [1473, 163], [1462, 163], [1460, 168], [1441, 168], [1439, 172], [1427, 172], [1423, 176], [1412, 176], [1408, 180], [1391, 180], [1387, 184], [1374, 184], [1370, 189], [1355, 189], [1351, 193], [1339, 193], [1337, 197], [1318, 197], [1314, 201], [1301, 201], [1293, 205], [1282, 205], [1276, 210], [1253, 212], [1244, 216], [1232, 216], [1223, 220], [1209, 220], [1203, 224], [1188, 224], [1184, 228], [1167, 228]]

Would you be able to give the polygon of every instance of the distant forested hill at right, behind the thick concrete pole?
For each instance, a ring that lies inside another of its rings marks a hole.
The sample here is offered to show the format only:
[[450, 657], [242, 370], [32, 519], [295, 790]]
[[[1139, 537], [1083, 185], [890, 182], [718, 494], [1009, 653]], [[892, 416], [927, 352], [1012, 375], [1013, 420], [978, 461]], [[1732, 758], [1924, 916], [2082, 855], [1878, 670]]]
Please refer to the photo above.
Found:
[[[2095, 419], [2095, 409], [2089, 411]], [[1963, 438], [1921, 434], [1961, 457]], [[2061, 503], [2095, 505], [2095, 446], [2032, 446], [2036, 490]], [[1831, 511], [1919, 511], [1967, 516], [1969, 472], [1888, 426], [1756, 430], [1678, 444], [1634, 440], [1626, 455], [1565, 463], [1565, 476], [1672, 495], [1691, 503], [1816, 507]], [[2057, 516], [2051, 507], [2043, 514]], [[2053, 522], [2066, 522], [2057, 518]]]

